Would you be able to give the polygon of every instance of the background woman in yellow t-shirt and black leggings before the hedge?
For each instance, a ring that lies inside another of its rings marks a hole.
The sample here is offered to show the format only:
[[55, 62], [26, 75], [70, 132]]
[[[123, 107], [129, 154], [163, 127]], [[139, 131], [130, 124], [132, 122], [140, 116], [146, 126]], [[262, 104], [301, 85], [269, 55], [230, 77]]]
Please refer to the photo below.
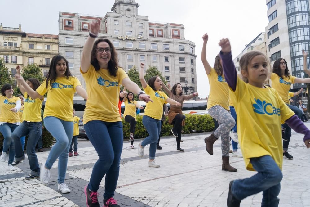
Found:
[[[124, 90], [126, 90], [124, 88]], [[139, 106], [137, 101], [134, 100], [134, 94], [132, 92], [128, 92], [127, 97], [124, 97], [125, 103], [125, 111], [124, 111], [124, 120], [130, 124], [130, 148], [134, 147], [134, 133], [135, 133], [135, 125], [137, 124], [137, 115], [136, 108], [143, 109], [143, 106]]]

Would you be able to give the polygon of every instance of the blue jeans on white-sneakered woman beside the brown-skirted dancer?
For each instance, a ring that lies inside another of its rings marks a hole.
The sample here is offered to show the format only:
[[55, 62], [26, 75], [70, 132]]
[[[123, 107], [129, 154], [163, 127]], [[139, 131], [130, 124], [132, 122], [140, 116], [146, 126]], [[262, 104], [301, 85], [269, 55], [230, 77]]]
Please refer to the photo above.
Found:
[[142, 118], [142, 123], [150, 136], [146, 137], [142, 141], [141, 145], [142, 147], [145, 147], [146, 145], [150, 144], [150, 160], [153, 160], [155, 159], [157, 140], [160, 134], [162, 124], [160, 120], [153, 119], [152, 117], [145, 115]]

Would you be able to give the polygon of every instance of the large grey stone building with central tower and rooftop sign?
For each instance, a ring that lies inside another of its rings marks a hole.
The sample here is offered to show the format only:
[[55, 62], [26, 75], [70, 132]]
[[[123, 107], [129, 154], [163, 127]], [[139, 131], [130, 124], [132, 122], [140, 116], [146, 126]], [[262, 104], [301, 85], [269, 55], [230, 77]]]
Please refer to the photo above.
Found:
[[184, 25], [150, 22], [148, 16], [138, 15], [138, 7], [135, 0], [115, 0], [113, 12], [104, 17], [60, 12], [60, 54], [68, 59], [71, 72], [85, 86], [80, 58], [90, 23], [99, 18], [99, 38], [113, 42], [125, 71], [143, 62], [156, 66], [171, 84], [185, 86], [188, 81], [197, 91], [195, 44], [185, 39]]

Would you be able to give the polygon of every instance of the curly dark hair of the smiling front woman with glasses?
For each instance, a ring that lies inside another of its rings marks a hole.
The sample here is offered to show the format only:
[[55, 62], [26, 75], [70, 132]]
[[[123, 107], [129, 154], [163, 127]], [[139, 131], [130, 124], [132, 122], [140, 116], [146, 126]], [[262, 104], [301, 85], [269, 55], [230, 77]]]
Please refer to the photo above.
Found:
[[118, 60], [117, 60], [117, 51], [114, 47], [114, 45], [112, 44], [112, 42], [108, 39], [97, 39], [94, 43], [93, 49], [91, 50], [91, 65], [94, 66], [95, 70], [99, 70], [100, 69], [100, 65], [99, 62], [97, 60], [97, 45], [98, 43], [101, 42], [106, 42], [109, 44], [110, 48], [112, 49], [111, 51], [111, 59], [108, 62], [108, 70], [110, 72], [110, 75], [113, 75], [114, 77], [117, 74], [117, 70], [118, 70]]

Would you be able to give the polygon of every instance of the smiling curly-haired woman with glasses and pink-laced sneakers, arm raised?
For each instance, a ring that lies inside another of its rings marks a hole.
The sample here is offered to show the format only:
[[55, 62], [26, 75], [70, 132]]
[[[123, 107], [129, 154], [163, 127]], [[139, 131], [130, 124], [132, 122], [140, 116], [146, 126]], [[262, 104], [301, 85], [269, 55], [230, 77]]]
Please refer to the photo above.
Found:
[[100, 206], [98, 189], [105, 175], [104, 206], [118, 207], [113, 199], [123, 147], [123, 125], [117, 103], [120, 85], [138, 94], [140, 100], [151, 101], [126, 72], [118, 67], [117, 51], [108, 39], [96, 38], [101, 22], [90, 24], [89, 37], [81, 58], [81, 73], [85, 79], [88, 99], [83, 122], [87, 136], [98, 153], [89, 184], [84, 188], [87, 206]]

